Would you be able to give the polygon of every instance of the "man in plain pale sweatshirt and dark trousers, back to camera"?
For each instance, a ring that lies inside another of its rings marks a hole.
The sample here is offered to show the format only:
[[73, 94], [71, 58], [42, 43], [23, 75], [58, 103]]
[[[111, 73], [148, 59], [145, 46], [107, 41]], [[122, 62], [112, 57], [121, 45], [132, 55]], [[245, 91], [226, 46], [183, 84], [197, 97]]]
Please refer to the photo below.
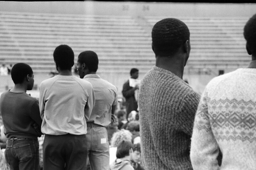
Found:
[[92, 84], [72, 75], [74, 52], [68, 45], [55, 48], [53, 59], [59, 74], [40, 85], [43, 169], [85, 169], [86, 121], [95, 104]]

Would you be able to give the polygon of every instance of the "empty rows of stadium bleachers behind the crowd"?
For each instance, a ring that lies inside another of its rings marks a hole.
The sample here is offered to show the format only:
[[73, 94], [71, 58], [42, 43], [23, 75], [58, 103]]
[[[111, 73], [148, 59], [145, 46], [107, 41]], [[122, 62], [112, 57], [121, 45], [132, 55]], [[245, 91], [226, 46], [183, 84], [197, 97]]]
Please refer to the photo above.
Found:
[[124, 73], [132, 67], [147, 72], [155, 64], [147, 30], [168, 17], [182, 20], [190, 30], [187, 69], [235, 69], [250, 61], [243, 38], [246, 17], [146, 16], [145, 28], [132, 16], [1, 11], [0, 63], [25, 62], [35, 72], [50, 72], [55, 70], [54, 49], [67, 44], [74, 50], [75, 61], [80, 52], [95, 51], [99, 72]]

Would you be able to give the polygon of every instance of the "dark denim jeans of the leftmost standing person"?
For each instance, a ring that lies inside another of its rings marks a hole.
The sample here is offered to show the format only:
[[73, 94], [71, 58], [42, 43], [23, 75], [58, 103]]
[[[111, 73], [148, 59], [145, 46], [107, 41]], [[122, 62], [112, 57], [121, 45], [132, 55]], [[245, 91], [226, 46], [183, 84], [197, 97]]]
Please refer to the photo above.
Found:
[[11, 170], [38, 170], [38, 149], [38, 140], [12, 138], [7, 140], [4, 156]]

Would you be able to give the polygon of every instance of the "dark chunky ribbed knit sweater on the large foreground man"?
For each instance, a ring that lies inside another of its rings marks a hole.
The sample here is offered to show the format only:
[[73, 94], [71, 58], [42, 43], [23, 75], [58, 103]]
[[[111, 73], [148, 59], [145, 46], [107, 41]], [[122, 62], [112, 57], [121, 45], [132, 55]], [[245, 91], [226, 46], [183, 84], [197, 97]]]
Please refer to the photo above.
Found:
[[198, 94], [172, 72], [154, 66], [141, 81], [138, 102], [145, 169], [192, 169], [190, 138]]

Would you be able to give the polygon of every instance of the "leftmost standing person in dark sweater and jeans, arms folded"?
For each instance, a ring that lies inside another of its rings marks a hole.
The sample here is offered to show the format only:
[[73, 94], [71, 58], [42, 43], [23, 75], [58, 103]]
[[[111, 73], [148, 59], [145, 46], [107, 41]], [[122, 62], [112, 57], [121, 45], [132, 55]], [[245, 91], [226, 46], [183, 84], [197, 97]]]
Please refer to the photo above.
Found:
[[[39, 144], [41, 136], [38, 100], [26, 92], [34, 85], [33, 70], [28, 64], [17, 63], [11, 71], [14, 88], [2, 93], [0, 112], [3, 118], [7, 144], [6, 161], [11, 170], [38, 170]], [[1, 151], [0, 151], [1, 152]]]

